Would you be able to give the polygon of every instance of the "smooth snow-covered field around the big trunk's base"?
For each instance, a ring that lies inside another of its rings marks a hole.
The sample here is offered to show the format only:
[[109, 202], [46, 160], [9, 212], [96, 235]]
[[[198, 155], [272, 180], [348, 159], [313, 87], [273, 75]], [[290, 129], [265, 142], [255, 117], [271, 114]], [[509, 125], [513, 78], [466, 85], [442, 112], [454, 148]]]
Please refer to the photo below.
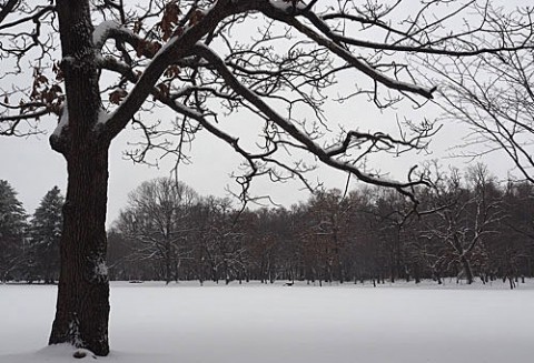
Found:
[[[44, 347], [55, 286], [0, 285], [0, 362], [80, 361]], [[117, 363], [534, 362], [534, 281], [323, 288], [112, 283]], [[95, 361], [86, 357], [81, 361]]]

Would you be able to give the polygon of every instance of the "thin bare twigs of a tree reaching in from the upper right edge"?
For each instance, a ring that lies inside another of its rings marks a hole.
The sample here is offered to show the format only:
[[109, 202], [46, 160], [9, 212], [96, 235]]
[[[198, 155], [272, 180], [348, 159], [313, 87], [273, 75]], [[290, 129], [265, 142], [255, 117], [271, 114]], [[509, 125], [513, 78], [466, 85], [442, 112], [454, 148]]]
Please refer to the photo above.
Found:
[[[518, 178], [534, 183], [534, 29], [524, 16], [532, 18], [533, 9], [488, 19], [507, 49], [475, 51], [468, 59], [427, 58], [424, 63], [444, 80], [439, 93], [447, 121], [471, 129], [462, 154], [505, 152]], [[478, 44], [495, 46], [494, 39], [484, 37]]]

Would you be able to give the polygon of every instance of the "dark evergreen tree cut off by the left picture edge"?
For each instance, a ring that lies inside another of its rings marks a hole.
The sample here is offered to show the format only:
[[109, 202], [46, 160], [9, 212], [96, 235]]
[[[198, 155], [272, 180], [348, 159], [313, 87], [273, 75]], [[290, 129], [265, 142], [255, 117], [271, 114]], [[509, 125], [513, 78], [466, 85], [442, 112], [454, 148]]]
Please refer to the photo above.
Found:
[[17, 192], [0, 180], [0, 280], [17, 278], [24, 262], [26, 212], [17, 199]]

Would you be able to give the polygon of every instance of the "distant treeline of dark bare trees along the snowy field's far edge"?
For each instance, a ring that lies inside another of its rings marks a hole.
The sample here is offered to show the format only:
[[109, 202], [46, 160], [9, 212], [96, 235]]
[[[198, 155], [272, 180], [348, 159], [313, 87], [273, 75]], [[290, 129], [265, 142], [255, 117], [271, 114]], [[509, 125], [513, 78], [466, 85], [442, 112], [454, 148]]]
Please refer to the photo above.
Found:
[[[457, 278], [514, 286], [534, 276], [533, 184], [500, 184], [477, 164], [435, 172], [428, 188], [413, 193], [416, 203], [388, 189], [329, 190], [290, 209], [238, 210], [228, 199], [156, 179], [130, 193], [109, 231], [109, 278], [319, 284]], [[57, 246], [38, 235], [37, 220], [23, 229], [21, 249], [0, 234], [3, 280], [57, 279], [50, 272], [57, 255], [42, 252], [43, 244]]]

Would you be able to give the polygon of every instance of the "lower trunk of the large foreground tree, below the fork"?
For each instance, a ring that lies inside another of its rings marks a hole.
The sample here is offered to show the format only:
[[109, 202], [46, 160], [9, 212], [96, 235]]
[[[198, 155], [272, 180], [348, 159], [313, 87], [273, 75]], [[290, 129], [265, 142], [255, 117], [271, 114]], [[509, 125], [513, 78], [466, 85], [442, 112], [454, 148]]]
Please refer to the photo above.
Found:
[[70, 343], [107, 355], [107, 150], [71, 159], [68, 160], [56, 320], [49, 343]]

